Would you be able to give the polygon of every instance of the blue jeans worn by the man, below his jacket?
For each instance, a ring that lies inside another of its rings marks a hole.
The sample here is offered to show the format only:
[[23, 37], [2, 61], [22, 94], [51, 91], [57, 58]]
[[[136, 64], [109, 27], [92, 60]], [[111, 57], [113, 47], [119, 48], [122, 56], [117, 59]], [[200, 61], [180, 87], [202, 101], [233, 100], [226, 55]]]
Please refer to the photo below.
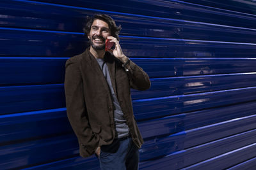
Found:
[[138, 170], [139, 150], [131, 138], [115, 139], [110, 145], [100, 147], [100, 169]]

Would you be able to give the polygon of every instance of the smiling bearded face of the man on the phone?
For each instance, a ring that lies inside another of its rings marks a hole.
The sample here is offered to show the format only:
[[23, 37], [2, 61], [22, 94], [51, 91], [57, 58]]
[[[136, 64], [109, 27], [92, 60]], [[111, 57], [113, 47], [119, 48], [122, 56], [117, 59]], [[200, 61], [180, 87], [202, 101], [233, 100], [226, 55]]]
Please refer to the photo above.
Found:
[[108, 24], [99, 19], [94, 20], [88, 35], [92, 48], [94, 50], [104, 50], [108, 36], [111, 36]]

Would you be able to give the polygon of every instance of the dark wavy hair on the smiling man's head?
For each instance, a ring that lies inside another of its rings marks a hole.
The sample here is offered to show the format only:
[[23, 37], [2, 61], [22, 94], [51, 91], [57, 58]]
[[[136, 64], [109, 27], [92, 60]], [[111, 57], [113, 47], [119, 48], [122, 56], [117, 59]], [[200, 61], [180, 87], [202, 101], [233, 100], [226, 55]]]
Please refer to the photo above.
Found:
[[89, 16], [86, 17], [87, 22], [83, 27], [84, 36], [86, 36], [86, 37], [88, 36], [88, 34], [90, 33], [90, 30], [91, 30], [93, 21], [97, 20], [97, 19], [103, 20], [104, 22], [106, 22], [111, 31], [111, 36], [115, 37], [119, 41], [118, 34], [119, 34], [120, 30], [122, 29], [121, 25], [116, 26], [115, 20], [113, 20], [113, 18], [111, 18], [105, 14], [97, 14], [92, 17], [89, 17]]

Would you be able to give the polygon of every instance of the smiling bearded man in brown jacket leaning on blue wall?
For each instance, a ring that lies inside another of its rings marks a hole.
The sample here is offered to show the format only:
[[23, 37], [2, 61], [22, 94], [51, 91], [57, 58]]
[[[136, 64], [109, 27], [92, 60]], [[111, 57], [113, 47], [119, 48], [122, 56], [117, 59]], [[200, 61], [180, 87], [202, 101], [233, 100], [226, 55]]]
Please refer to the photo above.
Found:
[[[147, 73], [122, 52], [115, 21], [95, 15], [84, 27], [90, 47], [66, 62], [67, 115], [82, 157], [96, 153], [101, 169], [138, 169], [143, 143], [130, 89], [150, 88]], [[105, 41], [114, 44], [106, 52]]]

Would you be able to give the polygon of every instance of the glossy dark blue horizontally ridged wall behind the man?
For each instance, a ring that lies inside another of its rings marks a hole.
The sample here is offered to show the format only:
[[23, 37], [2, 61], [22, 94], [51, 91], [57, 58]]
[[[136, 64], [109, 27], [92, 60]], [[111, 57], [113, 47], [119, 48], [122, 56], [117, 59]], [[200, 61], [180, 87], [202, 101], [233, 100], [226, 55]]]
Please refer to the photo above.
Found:
[[65, 61], [86, 48], [86, 15], [122, 25], [124, 53], [152, 87], [132, 90], [140, 169], [256, 166], [256, 3], [41, 0], [0, 3], [1, 169], [99, 169], [79, 157]]

